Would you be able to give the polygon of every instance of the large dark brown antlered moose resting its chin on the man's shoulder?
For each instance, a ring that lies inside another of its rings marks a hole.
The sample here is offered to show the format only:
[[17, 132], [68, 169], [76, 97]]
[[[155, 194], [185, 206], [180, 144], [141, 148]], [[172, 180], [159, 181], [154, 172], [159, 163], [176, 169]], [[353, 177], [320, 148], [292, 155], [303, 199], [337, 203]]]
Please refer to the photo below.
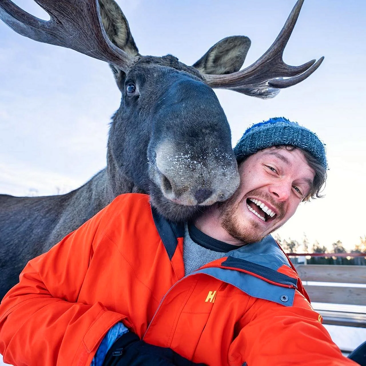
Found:
[[243, 70], [251, 43], [244, 36], [224, 38], [187, 66], [172, 55], [141, 55], [113, 0], [35, 1], [50, 20], [10, 0], [0, 1], [0, 18], [23, 36], [106, 61], [122, 99], [112, 117], [107, 167], [89, 182], [64, 195], [0, 195], [1, 297], [29, 259], [119, 194], [149, 193], [156, 210], [172, 221], [189, 220], [229, 198], [239, 175], [229, 124], [213, 88], [274, 97], [306, 79], [323, 60], [289, 66], [282, 59], [303, 0], [268, 51]]

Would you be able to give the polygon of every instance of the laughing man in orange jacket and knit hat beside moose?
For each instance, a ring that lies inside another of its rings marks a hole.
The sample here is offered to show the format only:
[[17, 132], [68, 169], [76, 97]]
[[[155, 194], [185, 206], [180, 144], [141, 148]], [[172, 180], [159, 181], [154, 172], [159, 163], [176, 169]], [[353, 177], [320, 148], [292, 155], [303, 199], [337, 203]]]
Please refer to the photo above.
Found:
[[235, 154], [238, 190], [193, 223], [125, 194], [31, 260], [0, 306], [4, 361], [355, 365], [268, 235], [319, 197], [323, 144], [275, 118], [249, 128]]

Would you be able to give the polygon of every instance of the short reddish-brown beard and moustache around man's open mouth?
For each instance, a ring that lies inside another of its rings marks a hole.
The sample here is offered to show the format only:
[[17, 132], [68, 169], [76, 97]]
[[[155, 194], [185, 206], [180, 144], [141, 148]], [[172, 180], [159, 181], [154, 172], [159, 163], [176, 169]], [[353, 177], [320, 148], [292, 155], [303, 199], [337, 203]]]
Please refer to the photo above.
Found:
[[[268, 233], [264, 234], [264, 228], [261, 223], [258, 222], [256, 219], [252, 220], [246, 220], [246, 222], [243, 222], [243, 220], [240, 220], [240, 205], [246, 206], [246, 200], [248, 197], [256, 197], [259, 199], [263, 199], [264, 201], [269, 202], [273, 207], [277, 209], [277, 215], [276, 218], [278, 220], [281, 220], [284, 216], [285, 210], [284, 210], [284, 204], [273, 202], [273, 198], [271, 195], [267, 192], [263, 192], [259, 189], [255, 189], [253, 191], [248, 192], [239, 202], [238, 202], [238, 196], [239, 196], [239, 190], [229, 198], [225, 202], [219, 202], [217, 203], [217, 208], [219, 210], [219, 219], [221, 226], [227, 231], [229, 235], [231, 235], [233, 238], [240, 240], [243, 242], [243, 244], [250, 244], [261, 241], [265, 236], [270, 234]], [[278, 221], [276, 220], [276, 221]], [[266, 229], [268, 230], [268, 228]]]

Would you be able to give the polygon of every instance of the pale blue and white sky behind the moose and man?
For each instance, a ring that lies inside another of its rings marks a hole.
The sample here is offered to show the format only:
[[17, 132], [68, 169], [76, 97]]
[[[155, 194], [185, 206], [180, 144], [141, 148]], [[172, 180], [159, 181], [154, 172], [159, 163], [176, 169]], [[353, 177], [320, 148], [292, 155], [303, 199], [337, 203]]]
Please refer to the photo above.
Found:
[[[232, 35], [251, 39], [244, 67], [280, 32], [294, 0], [119, 0], [142, 55], [177, 56], [193, 64]], [[42, 19], [32, 0], [16, 4]], [[285, 116], [326, 143], [325, 197], [300, 205], [278, 230], [310, 246], [317, 240], [347, 249], [366, 234], [366, 2], [305, 0], [284, 61], [299, 65], [325, 56], [302, 83], [270, 100], [216, 90], [232, 143], [253, 123]], [[0, 22], [0, 193], [67, 193], [106, 164], [109, 121], [120, 92], [107, 64], [16, 34]]]

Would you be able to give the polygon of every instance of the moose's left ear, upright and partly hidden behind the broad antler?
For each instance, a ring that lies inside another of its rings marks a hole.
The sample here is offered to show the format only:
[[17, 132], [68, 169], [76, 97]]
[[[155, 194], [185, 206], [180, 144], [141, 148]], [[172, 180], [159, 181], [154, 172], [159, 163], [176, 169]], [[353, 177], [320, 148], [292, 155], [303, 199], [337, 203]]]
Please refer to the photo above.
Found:
[[[130, 27], [121, 8], [114, 0], [99, 0], [102, 23], [109, 39], [124, 52], [137, 56], [138, 48], [131, 35]], [[117, 86], [123, 91], [126, 74], [119, 68], [109, 65], [116, 79]]]

